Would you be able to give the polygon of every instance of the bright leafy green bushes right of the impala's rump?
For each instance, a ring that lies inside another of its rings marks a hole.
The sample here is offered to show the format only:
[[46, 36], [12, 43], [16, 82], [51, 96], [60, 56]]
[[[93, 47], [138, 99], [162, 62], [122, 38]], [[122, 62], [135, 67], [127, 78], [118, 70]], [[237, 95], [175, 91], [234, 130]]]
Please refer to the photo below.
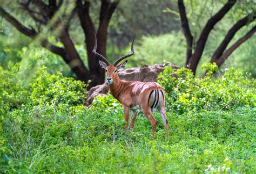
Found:
[[[179, 114], [191, 110], [228, 110], [238, 106], [255, 106], [255, 80], [234, 68], [225, 69], [220, 78], [213, 76], [215, 64], [205, 64], [205, 78], [194, 78], [190, 70], [174, 70], [167, 67], [159, 75], [159, 83], [165, 88], [167, 108]], [[178, 79], [171, 74], [177, 74]]]

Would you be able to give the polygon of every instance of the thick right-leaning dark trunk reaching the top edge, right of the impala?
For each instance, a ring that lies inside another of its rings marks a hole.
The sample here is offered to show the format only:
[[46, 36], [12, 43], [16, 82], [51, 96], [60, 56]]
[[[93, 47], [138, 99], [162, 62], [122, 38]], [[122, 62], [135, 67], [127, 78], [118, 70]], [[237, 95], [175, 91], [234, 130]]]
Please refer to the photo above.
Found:
[[230, 11], [232, 6], [237, 2], [237, 0], [228, 0], [228, 2], [221, 8], [214, 16], [212, 16], [206, 23], [205, 27], [203, 28], [203, 31], [200, 34], [200, 37], [197, 41], [197, 46], [194, 49], [194, 53], [191, 56], [190, 61], [187, 64], [187, 67], [192, 70], [194, 74], [196, 74], [196, 69], [199, 60], [201, 59], [201, 55], [204, 52], [204, 47], [208, 38], [208, 35], [210, 34], [212, 28], [215, 24], [218, 23], [219, 20], [221, 20], [225, 14]]

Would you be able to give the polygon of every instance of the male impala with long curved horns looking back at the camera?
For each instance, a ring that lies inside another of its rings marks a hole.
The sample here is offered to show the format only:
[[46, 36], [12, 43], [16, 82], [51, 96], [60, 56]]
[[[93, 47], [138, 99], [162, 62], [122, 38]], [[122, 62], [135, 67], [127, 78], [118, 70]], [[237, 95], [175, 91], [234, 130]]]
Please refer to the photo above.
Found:
[[[134, 36], [135, 38], [135, 36]], [[150, 120], [152, 125], [151, 138], [156, 131], [157, 120], [153, 117], [152, 112], [158, 111], [161, 114], [161, 118], [164, 121], [167, 137], [169, 137], [168, 121], [165, 115], [165, 98], [164, 89], [156, 82], [139, 82], [131, 81], [125, 82], [120, 80], [117, 74], [117, 70], [124, 68], [127, 60], [118, 64], [126, 57], [130, 57], [134, 54], [133, 41], [131, 44], [131, 53], [120, 57], [114, 64], [110, 64], [106, 58], [97, 53], [97, 38], [95, 36], [95, 47], [92, 52], [100, 57], [102, 61], [99, 64], [107, 72], [107, 83], [109, 89], [114, 98], [116, 98], [124, 107], [124, 121], [126, 122], [125, 129], [128, 129], [129, 111], [132, 111], [132, 117], [130, 122], [130, 128], [133, 130], [134, 121], [136, 120], [137, 111], [139, 108], [142, 110], [147, 119]]]

